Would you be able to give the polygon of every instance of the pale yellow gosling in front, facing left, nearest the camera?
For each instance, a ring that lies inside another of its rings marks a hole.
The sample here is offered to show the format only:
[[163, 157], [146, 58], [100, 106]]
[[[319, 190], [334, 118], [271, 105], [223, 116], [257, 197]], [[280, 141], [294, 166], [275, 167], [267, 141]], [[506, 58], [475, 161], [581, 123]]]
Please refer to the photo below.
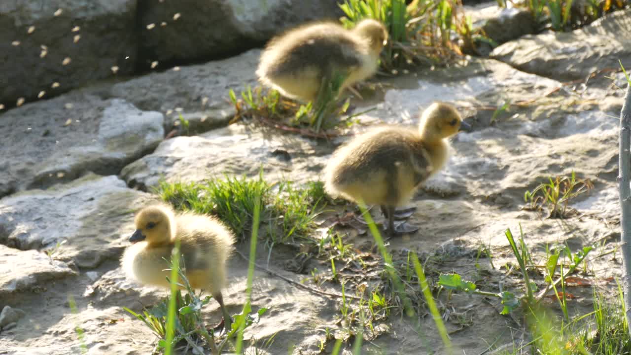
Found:
[[[136, 215], [133, 245], [122, 256], [122, 268], [132, 279], [151, 286], [170, 287], [168, 264], [175, 241], [180, 241], [180, 267], [193, 289], [205, 289], [217, 300], [225, 329], [232, 319], [221, 289], [226, 282], [226, 260], [233, 250], [233, 234], [220, 220], [208, 215], [175, 214], [165, 205], [145, 207]], [[180, 286], [180, 289], [183, 287]]]

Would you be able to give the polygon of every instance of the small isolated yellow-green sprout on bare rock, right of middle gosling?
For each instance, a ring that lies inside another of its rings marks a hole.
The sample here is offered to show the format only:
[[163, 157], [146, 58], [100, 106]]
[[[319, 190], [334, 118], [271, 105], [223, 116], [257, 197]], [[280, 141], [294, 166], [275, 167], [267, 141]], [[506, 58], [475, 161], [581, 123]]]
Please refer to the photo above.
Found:
[[533, 210], [548, 209], [548, 218], [567, 217], [570, 200], [594, 188], [589, 179], [577, 179], [576, 174], [552, 179], [541, 183], [533, 191], [524, 193], [524, 201]]

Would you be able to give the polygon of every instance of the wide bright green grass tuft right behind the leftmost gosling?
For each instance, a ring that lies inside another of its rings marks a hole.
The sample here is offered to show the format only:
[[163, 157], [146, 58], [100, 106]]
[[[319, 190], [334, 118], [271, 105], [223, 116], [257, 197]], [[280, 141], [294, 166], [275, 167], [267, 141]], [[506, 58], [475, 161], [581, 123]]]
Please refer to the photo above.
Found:
[[251, 230], [254, 210], [259, 208], [261, 221], [270, 227], [266, 238], [272, 243], [308, 239], [314, 218], [326, 205], [322, 183], [296, 188], [288, 181], [270, 184], [262, 174], [254, 179], [226, 176], [204, 183], [162, 182], [158, 193], [176, 209], [216, 215], [240, 239]]

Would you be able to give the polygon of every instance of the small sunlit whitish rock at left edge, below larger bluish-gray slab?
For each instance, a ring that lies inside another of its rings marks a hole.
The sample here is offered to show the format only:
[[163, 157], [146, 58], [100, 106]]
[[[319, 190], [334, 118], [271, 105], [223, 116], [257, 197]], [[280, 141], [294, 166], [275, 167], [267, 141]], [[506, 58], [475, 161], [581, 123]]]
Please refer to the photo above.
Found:
[[0, 260], [0, 295], [30, 291], [48, 280], [74, 275], [66, 263], [35, 250], [21, 251], [0, 244]]

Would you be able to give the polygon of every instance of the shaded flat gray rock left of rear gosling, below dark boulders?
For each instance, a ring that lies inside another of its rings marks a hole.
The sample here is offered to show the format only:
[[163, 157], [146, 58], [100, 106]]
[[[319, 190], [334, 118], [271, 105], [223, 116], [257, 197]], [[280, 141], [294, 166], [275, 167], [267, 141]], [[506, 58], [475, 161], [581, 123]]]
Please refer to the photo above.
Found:
[[240, 97], [247, 85], [257, 85], [254, 71], [260, 56], [259, 49], [252, 49], [222, 61], [151, 73], [115, 84], [110, 95], [124, 98], [141, 110], [162, 112], [167, 131], [179, 121], [180, 114], [191, 120], [193, 131], [216, 128], [235, 113], [228, 90]]

